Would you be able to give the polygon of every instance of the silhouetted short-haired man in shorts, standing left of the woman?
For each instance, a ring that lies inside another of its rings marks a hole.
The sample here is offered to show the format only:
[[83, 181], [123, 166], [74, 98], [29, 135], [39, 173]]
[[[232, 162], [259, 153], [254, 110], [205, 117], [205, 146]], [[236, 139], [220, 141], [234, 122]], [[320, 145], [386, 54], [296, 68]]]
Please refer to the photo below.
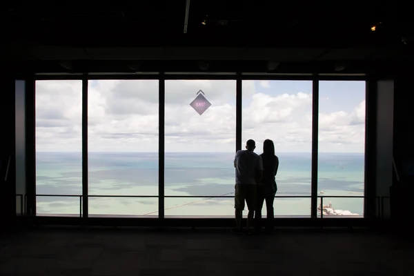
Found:
[[250, 227], [253, 225], [253, 217], [255, 215], [255, 205], [257, 199], [257, 184], [262, 179], [263, 174], [262, 157], [253, 152], [255, 148], [255, 141], [250, 139], [246, 142], [246, 150], [238, 150], [235, 156], [236, 233], [242, 233], [242, 213], [244, 210], [244, 201], [246, 201], [248, 208], [246, 230], [250, 232]]

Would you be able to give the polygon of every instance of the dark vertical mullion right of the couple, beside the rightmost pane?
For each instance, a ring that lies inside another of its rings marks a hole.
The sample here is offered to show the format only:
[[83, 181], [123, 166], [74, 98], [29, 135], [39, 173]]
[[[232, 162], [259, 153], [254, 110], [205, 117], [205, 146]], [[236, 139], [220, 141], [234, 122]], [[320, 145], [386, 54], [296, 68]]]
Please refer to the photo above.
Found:
[[311, 180], [311, 217], [317, 217], [317, 164], [319, 125], [319, 81], [312, 83], [312, 180]]

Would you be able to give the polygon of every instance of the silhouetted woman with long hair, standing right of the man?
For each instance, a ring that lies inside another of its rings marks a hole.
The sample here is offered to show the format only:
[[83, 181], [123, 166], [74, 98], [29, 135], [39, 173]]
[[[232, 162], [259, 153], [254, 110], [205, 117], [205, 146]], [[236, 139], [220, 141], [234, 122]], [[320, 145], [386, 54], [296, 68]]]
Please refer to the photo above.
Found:
[[270, 139], [266, 139], [263, 143], [263, 153], [260, 155], [263, 161], [263, 178], [257, 187], [257, 208], [255, 212], [255, 228], [256, 232], [262, 230], [262, 208], [266, 201], [266, 233], [273, 232], [273, 219], [275, 212], [273, 209], [273, 201], [277, 192], [277, 184], [275, 176], [279, 168], [279, 158], [275, 155], [275, 144]]

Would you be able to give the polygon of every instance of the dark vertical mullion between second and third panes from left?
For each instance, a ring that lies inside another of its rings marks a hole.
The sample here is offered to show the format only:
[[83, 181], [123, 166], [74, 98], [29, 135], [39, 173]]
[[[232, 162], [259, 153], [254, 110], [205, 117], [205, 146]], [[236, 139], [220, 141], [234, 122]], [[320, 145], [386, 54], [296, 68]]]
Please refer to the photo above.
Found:
[[158, 218], [164, 221], [164, 173], [165, 173], [165, 103], [166, 82], [160, 73], [158, 85]]

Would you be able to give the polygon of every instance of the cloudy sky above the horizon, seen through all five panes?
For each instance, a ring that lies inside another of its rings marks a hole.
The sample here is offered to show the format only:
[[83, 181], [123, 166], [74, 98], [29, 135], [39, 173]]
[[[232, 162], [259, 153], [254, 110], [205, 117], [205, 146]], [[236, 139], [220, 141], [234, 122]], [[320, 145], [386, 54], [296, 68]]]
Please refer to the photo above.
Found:
[[[190, 103], [203, 90], [210, 108]], [[243, 81], [242, 140], [264, 139], [276, 152], [311, 152], [312, 82]], [[36, 82], [39, 152], [81, 152], [79, 80]], [[234, 152], [235, 80], [167, 80], [166, 152]], [[158, 151], [158, 81], [88, 83], [90, 152]], [[319, 152], [364, 152], [365, 82], [319, 82]]]

